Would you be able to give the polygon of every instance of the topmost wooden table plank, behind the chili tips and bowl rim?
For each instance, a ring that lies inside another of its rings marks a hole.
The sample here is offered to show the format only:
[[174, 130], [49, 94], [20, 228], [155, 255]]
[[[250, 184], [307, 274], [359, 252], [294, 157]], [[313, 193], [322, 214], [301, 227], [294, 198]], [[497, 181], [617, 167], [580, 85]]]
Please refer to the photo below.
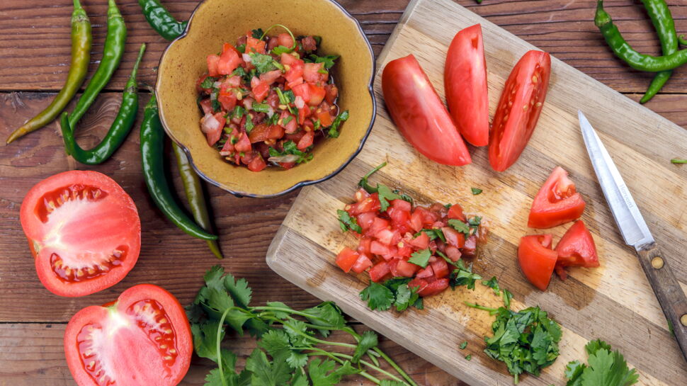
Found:
[[[378, 54], [407, 2], [344, 0], [341, 4], [363, 24]], [[457, 2], [618, 91], [643, 92], [652, 77], [630, 69], [613, 57], [593, 23], [596, 1], [484, 0], [481, 5], [474, 0]], [[106, 3], [96, 0], [82, 3], [93, 23], [92, 74], [101, 57], [106, 35]], [[129, 38], [123, 64], [108, 88], [123, 87], [141, 42], [149, 46], [140, 78], [153, 84], [154, 67], [166, 47], [166, 40], [149, 28], [135, 0], [118, 3], [129, 28]], [[180, 19], [188, 18], [196, 4], [197, 1], [191, 0], [165, 1], [169, 10]], [[687, 7], [679, 6], [676, 0], [669, 4], [678, 29], [687, 32]], [[659, 53], [653, 27], [641, 6], [632, 0], [613, 0], [606, 1], [606, 8], [638, 50]], [[50, 7], [39, 0], [1, 2], [0, 18], [5, 23], [0, 29], [3, 32], [0, 50], [4, 52], [0, 90], [56, 90], [62, 87], [68, 71], [65, 63], [69, 63], [71, 11], [69, 1]], [[687, 70], [678, 69], [664, 91], [684, 92], [682, 85], [686, 80]]]

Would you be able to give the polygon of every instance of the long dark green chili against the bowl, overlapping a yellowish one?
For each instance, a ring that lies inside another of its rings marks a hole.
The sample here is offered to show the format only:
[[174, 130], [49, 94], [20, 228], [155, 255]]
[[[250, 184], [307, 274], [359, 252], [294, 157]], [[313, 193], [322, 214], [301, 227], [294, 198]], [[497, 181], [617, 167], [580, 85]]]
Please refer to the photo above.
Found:
[[141, 124], [141, 158], [143, 176], [148, 186], [148, 192], [155, 201], [155, 205], [164, 215], [174, 222], [179, 229], [198, 239], [216, 240], [217, 236], [205, 232], [186, 213], [181, 210], [174, 200], [169, 183], [164, 175], [164, 130], [160, 122], [160, 113], [153, 93], [145, 106], [143, 123]]

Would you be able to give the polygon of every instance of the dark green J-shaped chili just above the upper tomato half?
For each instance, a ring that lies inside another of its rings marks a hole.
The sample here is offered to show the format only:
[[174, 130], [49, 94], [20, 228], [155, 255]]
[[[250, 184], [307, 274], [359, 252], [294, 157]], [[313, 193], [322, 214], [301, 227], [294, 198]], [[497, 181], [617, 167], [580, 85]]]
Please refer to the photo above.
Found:
[[138, 53], [134, 69], [122, 93], [122, 105], [119, 108], [119, 112], [110, 126], [110, 130], [108, 130], [108, 133], [96, 147], [90, 150], [81, 149], [74, 139], [74, 127], [69, 124], [69, 120], [72, 117], [66, 111], [62, 114], [61, 126], [64, 147], [67, 149], [67, 153], [71, 154], [72, 157], [74, 157], [76, 161], [81, 162], [81, 164], [102, 164], [106, 159], [112, 156], [115, 150], [122, 145], [127, 135], [129, 135], [131, 127], [134, 125], [134, 120], [136, 119], [136, 113], [138, 113], [138, 83], [136, 81], [136, 73], [138, 72], [138, 65], [141, 63], [143, 52], [145, 52], [145, 43], [141, 45], [141, 50]]

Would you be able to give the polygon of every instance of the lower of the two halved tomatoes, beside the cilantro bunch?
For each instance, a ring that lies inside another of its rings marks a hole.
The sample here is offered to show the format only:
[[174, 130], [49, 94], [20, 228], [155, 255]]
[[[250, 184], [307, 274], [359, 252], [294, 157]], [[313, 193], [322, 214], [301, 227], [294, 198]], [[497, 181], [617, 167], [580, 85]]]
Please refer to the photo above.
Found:
[[79, 386], [174, 386], [191, 364], [191, 326], [174, 295], [135, 285], [113, 303], [76, 312], [64, 353]]

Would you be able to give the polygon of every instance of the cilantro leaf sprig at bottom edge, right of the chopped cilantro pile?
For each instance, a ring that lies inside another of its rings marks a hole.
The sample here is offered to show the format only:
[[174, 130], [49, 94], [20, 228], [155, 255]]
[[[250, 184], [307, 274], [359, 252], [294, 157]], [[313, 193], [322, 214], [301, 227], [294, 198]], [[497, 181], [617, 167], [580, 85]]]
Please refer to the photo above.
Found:
[[630, 370], [623, 354], [611, 351], [611, 345], [605, 341], [590, 341], [584, 348], [589, 354], [589, 364], [568, 363], [565, 366], [566, 386], [630, 386], [637, 383], [637, 370]]

